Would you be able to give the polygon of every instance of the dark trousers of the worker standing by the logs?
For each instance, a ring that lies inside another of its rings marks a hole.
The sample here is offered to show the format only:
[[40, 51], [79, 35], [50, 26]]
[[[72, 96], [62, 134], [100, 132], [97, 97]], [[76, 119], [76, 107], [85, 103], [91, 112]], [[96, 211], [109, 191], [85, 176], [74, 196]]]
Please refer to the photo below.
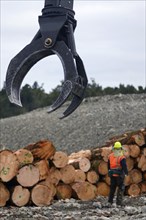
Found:
[[116, 176], [116, 177], [111, 176], [111, 185], [110, 185], [108, 202], [113, 203], [113, 198], [117, 187], [118, 187], [118, 191], [117, 191], [116, 203], [117, 205], [121, 205], [123, 200], [123, 193], [125, 190], [123, 176]]

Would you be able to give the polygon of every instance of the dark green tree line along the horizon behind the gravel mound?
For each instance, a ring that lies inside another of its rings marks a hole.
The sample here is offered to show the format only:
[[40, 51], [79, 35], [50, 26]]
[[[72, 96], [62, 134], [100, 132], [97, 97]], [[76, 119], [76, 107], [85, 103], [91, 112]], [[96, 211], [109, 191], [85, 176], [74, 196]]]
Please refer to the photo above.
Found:
[[[46, 93], [43, 86], [39, 86], [37, 82], [34, 82], [32, 86], [26, 84], [21, 89], [21, 101], [23, 107], [18, 107], [9, 102], [6, 95], [5, 87], [0, 91], [0, 118], [7, 118], [24, 114], [37, 108], [50, 106], [59, 96], [63, 82], [56, 88], [52, 89], [50, 93]], [[146, 87], [139, 86], [135, 88], [133, 85], [120, 84], [118, 87], [106, 87], [103, 88], [95, 82], [94, 79], [88, 84], [86, 89], [85, 98], [103, 96], [103, 95], [115, 95], [115, 94], [140, 94], [146, 93]]]

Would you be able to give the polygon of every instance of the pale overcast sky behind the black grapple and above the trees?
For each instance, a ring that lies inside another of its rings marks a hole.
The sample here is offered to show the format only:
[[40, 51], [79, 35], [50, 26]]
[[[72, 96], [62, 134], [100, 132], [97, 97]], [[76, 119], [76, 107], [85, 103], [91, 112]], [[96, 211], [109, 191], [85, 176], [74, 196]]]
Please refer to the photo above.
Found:
[[[1, 87], [10, 60], [39, 29], [44, 0], [1, 0]], [[74, 0], [77, 52], [84, 61], [89, 82], [119, 86], [145, 86], [145, 0]], [[35, 64], [23, 84], [43, 84], [46, 92], [63, 80], [57, 56]]]

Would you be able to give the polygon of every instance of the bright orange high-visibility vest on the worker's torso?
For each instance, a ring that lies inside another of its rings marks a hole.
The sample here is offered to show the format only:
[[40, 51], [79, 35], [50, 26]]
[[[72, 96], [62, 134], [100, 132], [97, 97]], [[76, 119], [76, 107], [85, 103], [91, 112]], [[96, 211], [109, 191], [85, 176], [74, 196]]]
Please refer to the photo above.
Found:
[[[108, 157], [109, 163], [110, 163], [110, 169], [111, 170], [117, 170], [120, 169], [122, 170], [121, 166], [121, 160], [124, 159], [125, 156], [115, 156], [114, 153], [111, 153]], [[113, 176], [118, 176], [118, 174], [113, 174]]]

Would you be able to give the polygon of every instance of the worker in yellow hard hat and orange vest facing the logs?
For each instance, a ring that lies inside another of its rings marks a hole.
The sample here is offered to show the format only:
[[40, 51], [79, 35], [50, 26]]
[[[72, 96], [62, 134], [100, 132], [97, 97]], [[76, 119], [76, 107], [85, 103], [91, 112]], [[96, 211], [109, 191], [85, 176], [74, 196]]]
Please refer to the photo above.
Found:
[[108, 206], [113, 203], [114, 194], [117, 190], [116, 204], [122, 206], [123, 194], [125, 190], [124, 178], [128, 175], [126, 158], [123, 154], [123, 148], [120, 142], [115, 142], [112, 153], [108, 157], [108, 170], [111, 180], [110, 193], [108, 197]]

